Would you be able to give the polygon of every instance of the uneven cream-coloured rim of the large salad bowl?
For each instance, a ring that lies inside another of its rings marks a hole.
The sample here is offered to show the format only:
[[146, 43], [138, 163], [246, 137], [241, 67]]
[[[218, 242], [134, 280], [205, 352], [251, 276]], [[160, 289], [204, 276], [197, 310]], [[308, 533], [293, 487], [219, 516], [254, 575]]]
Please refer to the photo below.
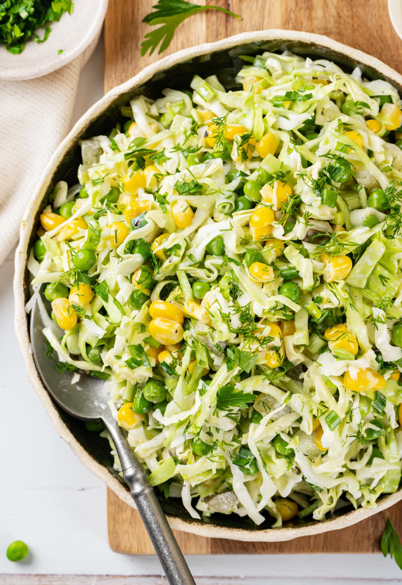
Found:
[[[112, 88], [107, 94], [104, 95], [98, 102], [96, 102], [88, 111], [81, 116], [77, 123], [75, 123], [73, 129], [68, 133], [67, 137], [61, 142], [60, 146], [54, 152], [53, 157], [47, 164], [47, 167], [43, 171], [42, 177], [40, 178], [39, 184], [37, 185], [35, 192], [30, 199], [28, 208], [26, 208], [25, 214], [23, 215], [21, 227], [20, 227], [20, 241], [15, 253], [15, 277], [14, 277], [14, 296], [15, 296], [15, 331], [16, 336], [22, 351], [22, 355], [26, 364], [26, 370], [30, 382], [38, 394], [43, 407], [46, 409], [47, 414], [54, 427], [61, 438], [64, 439], [73, 449], [75, 455], [84, 463], [88, 469], [91, 470], [96, 476], [99, 477], [106, 486], [108, 486], [114, 493], [126, 504], [135, 508], [132, 498], [129, 492], [123, 486], [123, 484], [116, 479], [105, 467], [95, 461], [93, 457], [78, 443], [74, 435], [67, 428], [61, 419], [59, 412], [53, 402], [50, 399], [49, 394], [45, 390], [42, 381], [36, 371], [35, 364], [33, 362], [32, 353], [30, 352], [30, 340], [28, 335], [27, 316], [25, 312], [25, 269], [26, 261], [28, 257], [28, 245], [30, 234], [33, 229], [33, 223], [35, 221], [36, 212], [42, 204], [46, 190], [49, 187], [51, 178], [54, 171], [63, 160], [64, 154], [66, 154], [70, 144], [81, 135], [85, 127], [91, 121], [98, 118], [105, 109], [111, 105], [119, 95], [124, 94], [133, 88], [143, 84], [145, 81], [153, 77], [154, 74], [159, 71], [166, 70], [174, 64], [180, 63], [180, 61], [188, 61], [193, 57], [198, 57], [203, 54], [216, 52], [219, 50], [231, 49], [231, 47], [252, 43], [262, 42], [265, 40], [283, 40], [284, 43], [287, 41], [300, 41], [304, 43], [310, 43], [314, 46], [323, 47], [324, 49], [334, 50], [341, 53], [343, 56], [348, 57], [352, 60], [358, 61], [359, 63], [374, 68], [379, 71], [382, 77], [390, 78], [390, 80], [396, 82], [397, 85], [402, 87], [402, 75], [398, 74], [391, 67], [384, 64], [376, 57], [369, 56], [363, 51], [358, 49], [352, 49], [345, 44], [339, 43], [327, 36], [315, 35], [313, 33], [298, 32], [294, 30], [281, 30], [281, 29], [270, 29], [260, 30], [254, 32], [240, 33], [226, 39], [219, 40], [214, 43], [204, 43], [190, 49], [184, 49], [173, 53], [156, 63], [150, 64], [144, 68], [140, 73], [136, 74], [130, 80], [125, 81], [123, 84]], [[402, 489], [396, 491], [394, 494], [386, 495], [382, 498], [376, 508], [358, 508], [348, 512], [345, 515], [339, 516], [334, 519], [328, 519], [317, 524], [285, 527], [278, 530], [271, 528], [263, 530], [247, 530], [243, 528], [229, 528], [226, 526], [218, 526], [214, 524], [201, 524], [199, 522], [187, 521], [182, 518], [167, 515], [169, 524], [176, 530], [192, 532], [193, 534], [200, 536], [207, 536], [209, 538], [225, 538], [235, 539], [239, 541], [256, 541], [256, 542], [280, 542], [287, 541], [301, 536], [311, 536], [327, 532], [329, 530], [338, 530], [351, 526], [360, 522], [365, 518], [376, 514], [393, 504], [396, 504], [402, 499]], [[212, 517], [213, 519], [213, 517]]]

